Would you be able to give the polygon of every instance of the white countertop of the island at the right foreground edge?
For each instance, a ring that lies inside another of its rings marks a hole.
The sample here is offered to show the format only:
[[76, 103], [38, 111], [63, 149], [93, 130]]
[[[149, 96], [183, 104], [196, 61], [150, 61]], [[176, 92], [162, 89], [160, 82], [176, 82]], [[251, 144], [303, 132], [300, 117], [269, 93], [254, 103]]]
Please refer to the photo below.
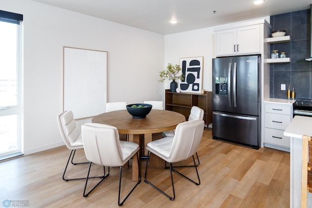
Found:
[[302, 135], [312, 136], [312, 117], [296, 115], [284, 132], [285, 136], [302, 138]]

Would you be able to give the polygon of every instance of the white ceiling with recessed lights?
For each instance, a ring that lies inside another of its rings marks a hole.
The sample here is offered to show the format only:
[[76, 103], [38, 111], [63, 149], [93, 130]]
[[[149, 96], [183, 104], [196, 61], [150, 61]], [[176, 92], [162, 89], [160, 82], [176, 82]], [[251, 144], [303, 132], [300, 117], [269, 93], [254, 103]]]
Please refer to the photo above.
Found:
[[[309, 9], [311, 0], [34, 0], [168, 35]], [[215, 14], [214, 14], [215, 11]], [[172, 25], [170, 19], [178, 22]]]

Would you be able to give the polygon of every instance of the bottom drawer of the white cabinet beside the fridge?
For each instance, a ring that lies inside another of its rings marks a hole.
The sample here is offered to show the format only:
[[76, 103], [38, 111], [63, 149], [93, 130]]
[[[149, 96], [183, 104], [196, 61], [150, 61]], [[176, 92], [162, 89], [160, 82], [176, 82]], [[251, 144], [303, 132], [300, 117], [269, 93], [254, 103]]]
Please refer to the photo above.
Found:
[[291, 138], [289, 136], [284, 136], [284, 130], [265, 128], [265, 143], [289, 148], [291, 145]]

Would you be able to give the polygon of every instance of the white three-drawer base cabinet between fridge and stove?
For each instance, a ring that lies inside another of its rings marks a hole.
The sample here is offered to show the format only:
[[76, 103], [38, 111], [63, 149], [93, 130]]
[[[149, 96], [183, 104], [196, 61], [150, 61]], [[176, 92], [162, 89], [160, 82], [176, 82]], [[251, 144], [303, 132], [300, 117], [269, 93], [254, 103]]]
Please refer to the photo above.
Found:
[[265, 104], [265, 141], [264, 146], [290, 151], [290, 137], [284, 131], [292, 121], [292, 105]]

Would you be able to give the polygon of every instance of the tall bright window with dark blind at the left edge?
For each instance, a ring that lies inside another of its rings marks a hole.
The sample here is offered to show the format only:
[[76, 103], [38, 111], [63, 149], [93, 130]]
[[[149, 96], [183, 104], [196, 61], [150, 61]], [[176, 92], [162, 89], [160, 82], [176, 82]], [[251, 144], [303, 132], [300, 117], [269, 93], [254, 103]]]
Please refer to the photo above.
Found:
[[22, 20], [0, 10], [0, 160], [22, 152]]

